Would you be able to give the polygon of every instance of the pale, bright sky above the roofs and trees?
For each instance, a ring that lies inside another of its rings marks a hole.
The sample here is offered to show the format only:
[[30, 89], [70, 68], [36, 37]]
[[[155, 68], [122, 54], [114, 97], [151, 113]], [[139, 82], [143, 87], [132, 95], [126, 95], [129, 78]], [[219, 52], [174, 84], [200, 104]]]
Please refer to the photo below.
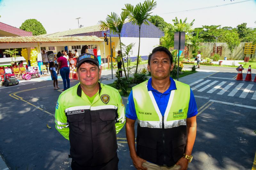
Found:
[[[194, 27], [202, 25], [221, 25], [236, 27], [238, 24], [247, 23], [248, 27], [256, 27], [256, 0], [157, 0], [157, 7], [152, 15], [163, 17], [168, 23], [176, 16], [178, 19], [188, 18], [188, 22], [195, 19]], [[106, 3], [107, 2], [107, 3]], [[0, 22], [17, 28], [26, 20], [35, 18], [40, 21], [47, 33], [65, 31], [78, 28], [75, 18], [81, 17], [79, 24], [85, 26], [96, 25], [99, 20], [104, 20], [111, 12], [121, 13], [124, 4], [136, 5], [138, 0], [0, 0]], [[210, 6], [230, 4], [203, 10], [184, 11]]]

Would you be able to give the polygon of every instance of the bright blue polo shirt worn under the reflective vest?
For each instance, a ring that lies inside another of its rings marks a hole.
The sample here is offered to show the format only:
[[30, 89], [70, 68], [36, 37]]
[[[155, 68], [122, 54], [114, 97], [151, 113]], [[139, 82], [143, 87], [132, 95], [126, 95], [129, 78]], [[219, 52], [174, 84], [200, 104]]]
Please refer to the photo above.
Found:
[[[156, 89], [154, 89], [152, 87], [152, 84], [151, 84], [152, 79], [150, 78], [148, 80], [148, 91], [152, 91], [153, 96], [156, 100], [157, 106], [158, 106], [162, 116], [164, 116], [164, 112], [166, 110], [166, 107], [167, 107], [167, 104], [168, 104], [168, 101], [169, 101], [169, 98], [171, 95], [171, 91], [177, 89], [175, 81], [171, 77], [170, 77], [170, 81], [171, 81], [171, 84], [170, 84], [169, 89], [167, 89], [164, 93], [160, 93], [159, 91], [157, 91]], [[189, 99], [189, 104], [188, 104], [187, 117], [188, 118], [193, 117], [197, 113], [198, 113], [198, 111], [197, 111], [197, 107], [196, 107], [195, 96], [194, 96], [192, 90], [190, 89], [190, 99]], [[137, 119], [132, 91], [128, 97], [125, 116], [132, 120]]]

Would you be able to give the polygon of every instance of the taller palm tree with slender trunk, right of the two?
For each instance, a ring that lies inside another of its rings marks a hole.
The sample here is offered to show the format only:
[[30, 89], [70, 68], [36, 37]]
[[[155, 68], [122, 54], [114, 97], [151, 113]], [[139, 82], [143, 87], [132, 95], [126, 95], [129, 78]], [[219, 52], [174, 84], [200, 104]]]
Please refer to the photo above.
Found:
[[143, 4], [139, 3], [135, 7], [131, 4], [125, 4], [124, 11], [129, 12], [129, 22], [132, 22], [133, 25], [139, 26], [139, 50], [138, 50], [138, 56], [137, 56], [137, 65], [136, 65], [136, 71], [135, 74], [137, 74], [138, 70], [138, 64], [139, 64], [139, 55], [140, 55], [140, 29], [142, 24], [148, 24], [147, 19], [150, 17], [150, 14], [154, 8], [156, 8], [156, 2], [154, 0], [146, 0]]

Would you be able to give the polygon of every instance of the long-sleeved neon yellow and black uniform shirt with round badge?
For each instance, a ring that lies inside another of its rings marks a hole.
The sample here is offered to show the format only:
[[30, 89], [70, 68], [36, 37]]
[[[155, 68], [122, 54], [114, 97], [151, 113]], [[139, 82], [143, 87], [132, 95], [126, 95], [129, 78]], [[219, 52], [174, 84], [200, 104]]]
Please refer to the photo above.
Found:
[[87, 97], [82, 98], [80, 84], [65, 90], [55, 110], [56, 129], [69, 139], [71, 158], [85, 169], [115, 157], [116, 133], [124, 126], [125, 109], [119, 92], [99, 85], [92, 103]]

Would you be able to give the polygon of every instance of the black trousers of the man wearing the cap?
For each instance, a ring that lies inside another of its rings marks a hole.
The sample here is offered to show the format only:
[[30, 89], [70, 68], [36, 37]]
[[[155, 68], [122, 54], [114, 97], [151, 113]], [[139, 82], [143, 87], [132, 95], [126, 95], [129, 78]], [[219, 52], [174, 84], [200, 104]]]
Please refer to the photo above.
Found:
[[109, 162], [99, 166], [80, 166], [72, 159], [71, 168], [72, 170], [118, 170], [118, 161], [117, 153]]

